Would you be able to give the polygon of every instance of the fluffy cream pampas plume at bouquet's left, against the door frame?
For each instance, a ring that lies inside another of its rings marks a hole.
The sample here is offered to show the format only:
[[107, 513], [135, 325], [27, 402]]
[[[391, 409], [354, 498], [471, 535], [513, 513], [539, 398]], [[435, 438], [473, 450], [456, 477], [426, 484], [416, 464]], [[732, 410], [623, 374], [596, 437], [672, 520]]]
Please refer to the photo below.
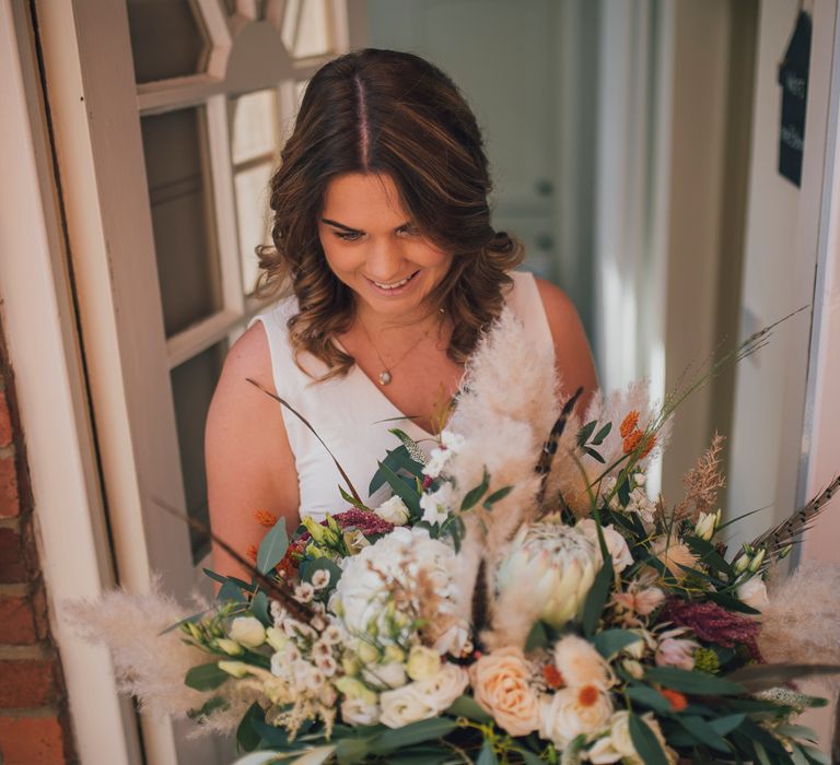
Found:
[[207, 663], [208, 655], [183, 643], [177, 629], [161, 635], [188, 613], [160, 592], [156, 580], [148, 595], [115, 590], [60, 607], [61, 619], [81, 637], [110, 650], [122, 693], [137, 696], [141, 709], [154, 716], [174, 717], [186, 717], [210, 697], [184, 684], [187, 670]]

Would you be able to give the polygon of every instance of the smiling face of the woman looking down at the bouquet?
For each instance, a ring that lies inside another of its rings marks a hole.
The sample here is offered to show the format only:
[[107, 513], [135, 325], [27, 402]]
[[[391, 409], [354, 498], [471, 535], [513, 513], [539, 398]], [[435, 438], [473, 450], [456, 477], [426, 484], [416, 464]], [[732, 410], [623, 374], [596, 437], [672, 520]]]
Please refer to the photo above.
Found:
[[348, 173], [327, 186], [318, 236], [330, 269], [383, 317], [410, 316], [446, 275], [452, 255], [415, 228], [384, 174]]

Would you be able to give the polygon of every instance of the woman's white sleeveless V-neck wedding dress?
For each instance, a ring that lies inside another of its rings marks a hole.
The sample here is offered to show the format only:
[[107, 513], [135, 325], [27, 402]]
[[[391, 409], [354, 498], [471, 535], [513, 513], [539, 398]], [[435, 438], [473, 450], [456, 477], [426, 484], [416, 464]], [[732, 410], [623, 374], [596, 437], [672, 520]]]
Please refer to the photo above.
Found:
[[[533, 274], [511, 272], [514, 283], [505, 301], [524, 325], [524, 342], [535, 348], [552, 344], [551, 332], [537, 292]], [[387, 486], [369, 495], [368, 486], [376, 472], [377, 460], [399, 440], [388, 428], [399, 427], [420, 442], [428, 451], [434, 446], [430, 433], [405, 417], [386, 397], [383, 389], [358, 366], [346, 377], [316, 382], [294, 363], [287, 321], [298, 310], [294, 296], [284, 298], [254, 321], [261, 321], [268, 336], [277, 395], [288, 401], [312, 424], [347, 472], [362, 501], [375, 507], [388, 495]], [[307, 353], [300, 356], [307, 368], [323, 374], [326, 366]], [[280, 404], [278, 403], [278, 407]], [[395, 420], [402, 417], [402, 420]], [[300, 487], [301, 517], [322, 520], [326, 513], [348, 508], [341, 498], [342, 479], [327, 450], [312, 432], [283, 407], [283, 423], [294, 454]], [[347, 489], [347, 486], [345, 486]]]

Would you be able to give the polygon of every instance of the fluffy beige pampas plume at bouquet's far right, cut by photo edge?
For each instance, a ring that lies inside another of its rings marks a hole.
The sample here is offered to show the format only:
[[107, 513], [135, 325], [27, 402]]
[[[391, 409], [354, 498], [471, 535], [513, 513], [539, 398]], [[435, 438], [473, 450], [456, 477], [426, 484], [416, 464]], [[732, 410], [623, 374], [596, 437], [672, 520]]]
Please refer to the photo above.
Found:
[[[770, 663], [840, 664], [840, 565], [803, 564], [771, 584], [758, 646]], [[838, 690], [837, 676], [826, 678]]]

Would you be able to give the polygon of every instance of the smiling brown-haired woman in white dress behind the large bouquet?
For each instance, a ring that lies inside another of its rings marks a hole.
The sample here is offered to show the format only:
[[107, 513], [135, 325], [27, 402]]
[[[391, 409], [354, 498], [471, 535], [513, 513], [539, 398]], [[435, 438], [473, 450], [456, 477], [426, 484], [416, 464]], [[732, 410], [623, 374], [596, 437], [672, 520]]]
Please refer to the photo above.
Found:
[[[490, 224], [488, 163], [475, 116], [423, 59], [366, 49], [310, 82], [271, 179], [275, 247], [260, 294], [282, 295], [231, 349], [206, 431], [215, 536], [243, 555], [267, 510], [296, 527], [348, 504], [312, 432], [362, 501], [388, 428], [431, 444], [480, 332], [511, 307], [522, 341], [551, 344], [563, 393], [585, 408], [597, 380], [569, 298], [512, 269], [521, 246]], [[214, 568], [242, 574], [214, 549]]]

